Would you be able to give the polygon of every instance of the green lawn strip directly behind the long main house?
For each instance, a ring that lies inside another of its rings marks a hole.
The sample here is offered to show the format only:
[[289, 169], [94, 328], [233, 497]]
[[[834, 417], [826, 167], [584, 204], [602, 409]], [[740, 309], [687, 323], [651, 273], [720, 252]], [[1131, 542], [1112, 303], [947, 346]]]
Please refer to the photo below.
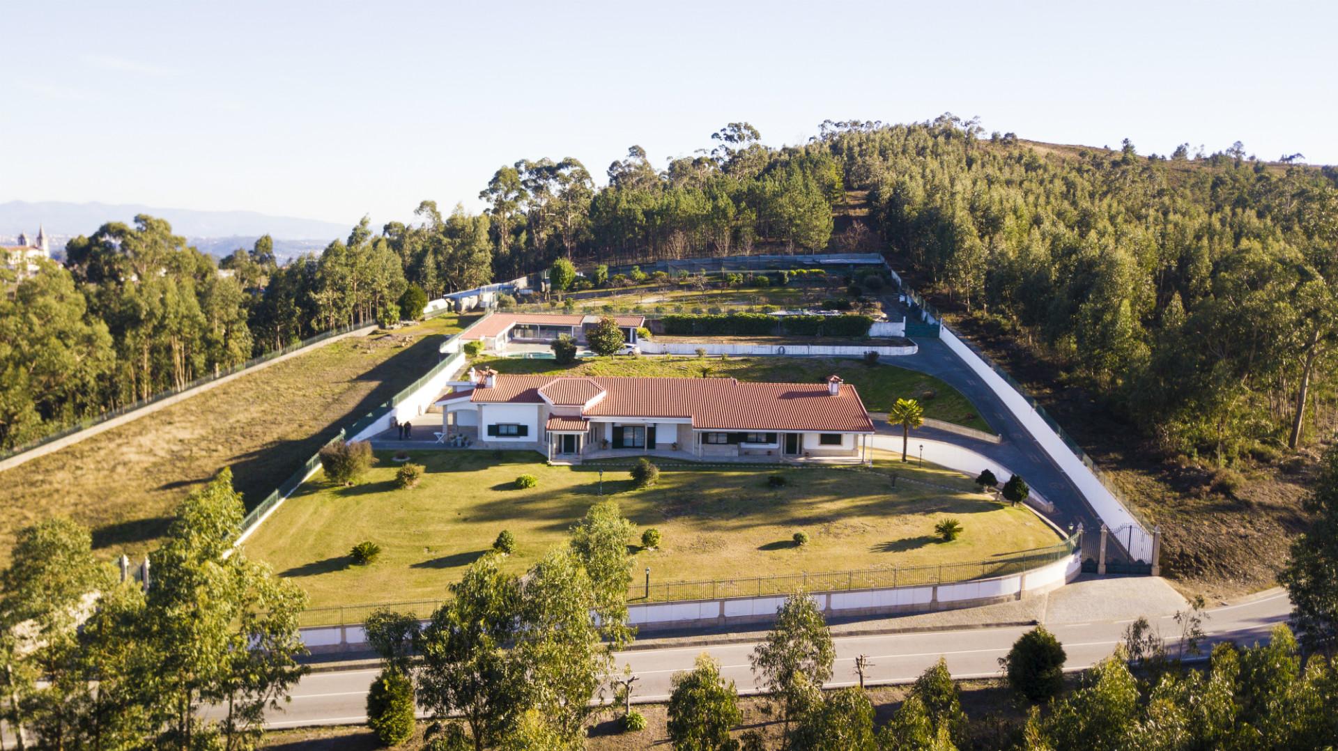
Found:
[[764, 383], [822, 383], [836, 373], [859, 390], [864, 408], [886, 412], [898, 399], [917, 399], [925, 416], [963, 427], [994, 432], [971, 402], [942, 380], [922, 372], [879, 363], [867, 365], [852, 357], [590, 357], [571, 365], [554, 360], [488, 357], [480, 365], [502, 373], [578, 376], [736, 378]]

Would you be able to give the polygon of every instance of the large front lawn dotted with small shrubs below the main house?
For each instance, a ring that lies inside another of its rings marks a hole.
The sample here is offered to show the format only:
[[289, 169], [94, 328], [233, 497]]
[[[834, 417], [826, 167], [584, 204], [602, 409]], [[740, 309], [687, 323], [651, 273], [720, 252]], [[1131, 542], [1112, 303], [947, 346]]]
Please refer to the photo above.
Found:
[[[317, 474], [246, 542], [248, 553], [305, 588], [314, 608], [442, 598], [502, 530], [516, 538], [503, 566], [519, 573], [599, 501], [597, 467], [546, 466], [533, 451], [413, 452], [427, 474], [411, 490], [395, 489], [391, 455], [379, 452], [353, 487]], [[636, 548], [634, 589], [645, 566], [654, 584], [967, 562], [1058, 542], [1032, 511], [987, 499], [963, 475], [890, 455], [875, 469], [895, 469], [896, 487], [855, 469], [741, 467], [664, 470], [657, 486], [636, 490], [626, 469], [606, 466], [603, 493], [638, 526], [629, 545], [645, 527], [664, 535], [657, 550]], [[520, 474], [535, 475], [538, 487], [515, 489]], [[771, 474], [787, 485], [769, 487]], [[941, 542], [934, 525], [947, 517], [965, 530]], [[808, 545], [792, 544], [796, 531]], [[357, 566], [348, 553], [364, 539], [383, 552]]]

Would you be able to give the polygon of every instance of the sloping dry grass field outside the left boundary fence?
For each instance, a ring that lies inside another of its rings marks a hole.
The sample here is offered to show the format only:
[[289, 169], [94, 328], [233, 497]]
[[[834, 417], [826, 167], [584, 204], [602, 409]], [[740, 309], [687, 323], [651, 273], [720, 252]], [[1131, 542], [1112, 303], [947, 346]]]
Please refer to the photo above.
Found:
[[258, 503], [340, 427], [431, 368], [468, 320], [344, 339], [0, 471], [0, 560], [16, 530], [54, 515], [90, 526], [104, 557], [140, 556], [222, 467]]

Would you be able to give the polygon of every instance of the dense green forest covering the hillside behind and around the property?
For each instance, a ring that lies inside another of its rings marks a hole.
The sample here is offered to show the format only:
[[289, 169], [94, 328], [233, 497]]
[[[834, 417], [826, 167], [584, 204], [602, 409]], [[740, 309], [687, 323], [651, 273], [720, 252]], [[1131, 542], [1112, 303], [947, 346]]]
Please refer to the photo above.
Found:
[[[656, 169], [640, 146], [597, 186], [574, 158], [496, 170], [482, 214], [443, 216], [285, 265], [268, 237], [218, 266], [139, 217], [67, 248], [0, 300], [0, 448], [321, 331], [549, 268], [848, 248], [851, 237], [1065, 363], [1168, 451], [1222, 463], [1303, 443], [1333, 403], [1338, 170], [1232, 147], [1191, 158], [1049, 147], [974, 122], [824, 122], [771, 149], [748, 123]], [[834, 237], [834, 206], [867, 222]], [[847, 237], [850, 236], [850, 237]], [[1330, 408], [1331, 411], [1331, 408]], [[1307, 422], [1309, 420], [1309, 422]]]

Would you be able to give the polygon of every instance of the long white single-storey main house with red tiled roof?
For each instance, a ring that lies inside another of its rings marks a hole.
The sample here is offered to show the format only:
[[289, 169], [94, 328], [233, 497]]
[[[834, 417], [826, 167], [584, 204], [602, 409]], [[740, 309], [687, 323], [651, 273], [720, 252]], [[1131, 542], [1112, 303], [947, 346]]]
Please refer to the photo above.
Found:
[[443, 434], [553, 461], [652, 454], [706, 461], [864, 462], [874, 420], [854, 386], [733, 378], [499, 375], [443, 398]]

